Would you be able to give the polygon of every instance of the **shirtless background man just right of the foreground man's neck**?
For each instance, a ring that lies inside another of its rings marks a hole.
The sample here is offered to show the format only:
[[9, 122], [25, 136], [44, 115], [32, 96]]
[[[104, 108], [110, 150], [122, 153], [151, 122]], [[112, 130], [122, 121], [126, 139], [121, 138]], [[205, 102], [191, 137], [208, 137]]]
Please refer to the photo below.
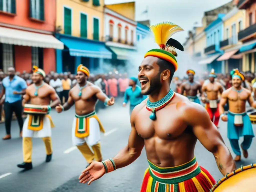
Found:
[[197, 93], [199, 91], [201, 94], [201, 84], [194, 81], [195, 71], [189, 69], [186, 73], [188, 75], [188, 81], [182, 83], [181, 94], [183, 95], [184, 91], [186, 91], [186, 97], [189, 99], [189, 101], [200, 104]]

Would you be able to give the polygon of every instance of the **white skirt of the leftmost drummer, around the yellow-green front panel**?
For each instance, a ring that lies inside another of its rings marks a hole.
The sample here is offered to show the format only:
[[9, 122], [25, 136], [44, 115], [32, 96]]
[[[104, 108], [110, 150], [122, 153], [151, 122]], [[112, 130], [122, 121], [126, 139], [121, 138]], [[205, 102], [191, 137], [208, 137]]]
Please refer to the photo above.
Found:
[[43, 120], [43, 128], [40, 131], [32, 131], [28, 129], [28, 119], [29, 115], [27, 116], [22, 130], [22, 137], [50, 137], [51, 136], [51, 122], [47, 116], [44, 116]]

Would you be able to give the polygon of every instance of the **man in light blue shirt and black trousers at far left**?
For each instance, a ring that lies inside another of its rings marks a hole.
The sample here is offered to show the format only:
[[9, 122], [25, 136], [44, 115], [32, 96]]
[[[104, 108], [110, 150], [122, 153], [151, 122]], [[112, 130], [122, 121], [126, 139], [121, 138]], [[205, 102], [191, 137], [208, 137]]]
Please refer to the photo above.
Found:
[[[11, 122], [13, 112], [18, 120], [20, 136], [22, 136], [22, 97], [21, 94], [25, 93], [27, 88], [27, 83], [24, 79], [15, 75], [15, 69], [13, 67], [8, 68], [8, 76], [2, 81], [2, 92], [0, 94], [0, 99], [5, 95], [4, 100], [4, 113], [5, 113], [5, 129], [6, 135], [3, 140], [11, 139]], [[2, 104], [2, 102], [1, 102]]]

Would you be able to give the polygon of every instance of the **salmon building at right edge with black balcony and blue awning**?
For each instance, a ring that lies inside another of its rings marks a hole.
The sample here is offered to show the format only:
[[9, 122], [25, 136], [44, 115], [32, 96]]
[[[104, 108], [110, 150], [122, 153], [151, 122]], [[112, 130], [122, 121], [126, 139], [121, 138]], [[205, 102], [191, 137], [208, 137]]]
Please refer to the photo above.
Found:
[[236, 1], [238, 9], [245, 10], [245, 28], [238, 33], [242, 42], [238, 55], [242, 56], [242, 70], [255, 72], [256, 65], [256, 2], [255, 0]]

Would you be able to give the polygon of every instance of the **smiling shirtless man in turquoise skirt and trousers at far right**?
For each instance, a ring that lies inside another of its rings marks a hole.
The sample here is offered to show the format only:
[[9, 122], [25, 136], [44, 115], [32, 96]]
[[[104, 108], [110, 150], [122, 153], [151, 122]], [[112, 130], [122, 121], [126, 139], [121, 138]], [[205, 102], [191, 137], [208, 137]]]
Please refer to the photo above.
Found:
[[[252, 124], [246, 113], [246, 101], [248, 101], [253, 108], [256, 108], [256, 101], [253, 101], [250, 90], [241, 87], [244, 76], [237, 69], [231, 71], [231, 74], [233, 86], [222, 93], [219, 112], [221, 114], [221, 120], [228, 121], [228, 139], [234, 154], [236, 154], [234, 160], [240, 161], [241, 151], [238, 142], [239, 137], [243, 136], [241, 149], [245, 158], [248, 157], [247, 150], [254, 137]], [[228, 115], [225, 115], [224, 105], [227, 101], [229, 111]]]

